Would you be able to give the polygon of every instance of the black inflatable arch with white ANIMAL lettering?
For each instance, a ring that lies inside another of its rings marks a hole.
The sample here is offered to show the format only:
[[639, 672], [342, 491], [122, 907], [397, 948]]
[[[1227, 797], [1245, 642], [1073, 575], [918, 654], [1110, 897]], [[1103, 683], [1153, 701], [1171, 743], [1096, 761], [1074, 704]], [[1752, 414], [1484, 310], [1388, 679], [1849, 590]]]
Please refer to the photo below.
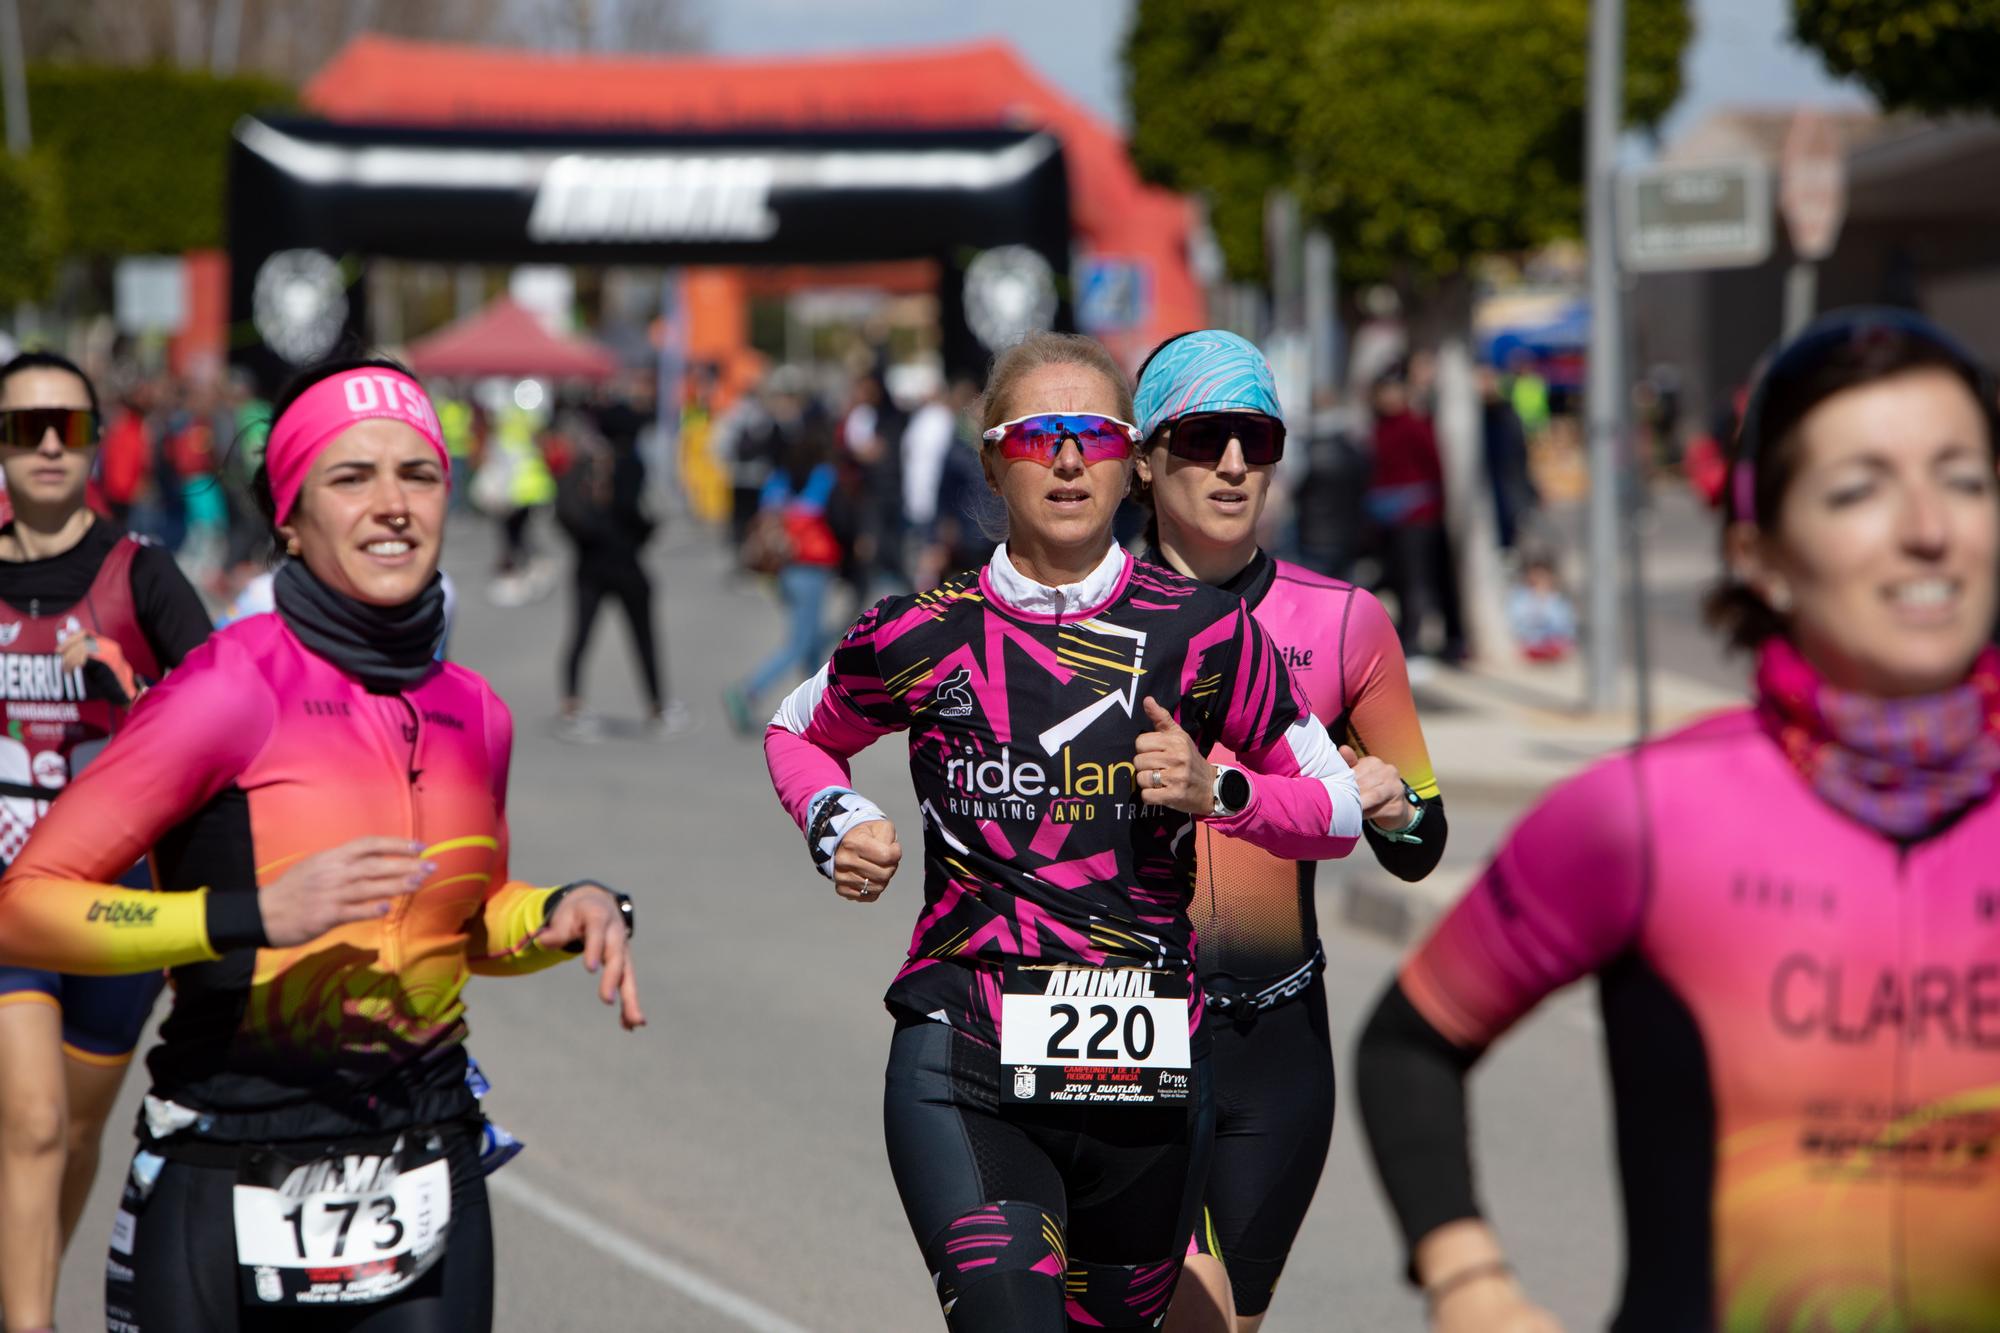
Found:
[[272, 386], [362, 328], [370, 256], [486, 264], [928, 258], [948, 370], [1070, 328], [1062, 146], [1022, 130], [634, 134], [244, 118], [230, 360]]

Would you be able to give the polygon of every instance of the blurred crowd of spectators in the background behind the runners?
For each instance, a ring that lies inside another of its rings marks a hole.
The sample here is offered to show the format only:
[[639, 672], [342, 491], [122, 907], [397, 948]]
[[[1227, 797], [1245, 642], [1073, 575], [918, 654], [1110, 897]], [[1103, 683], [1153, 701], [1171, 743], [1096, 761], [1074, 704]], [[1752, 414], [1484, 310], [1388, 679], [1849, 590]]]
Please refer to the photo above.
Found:
[[[252, 496], [270, 406], [242, 374], [186, 380], [112, 372], [94, 494], [114, 518], [168, 546], [216, 604], [268, 564], [270, 538]], [[560, 584], [562, 540], [578, 570], [566, 699], [578, 707], [580, 660], [596, 606], [626, 604], [654, 709], [672, 699], [654, 662], [650, 588], [640, 554], [664, 490], [712, 520], [742, 568], [776, 578], [782, 662], [742, 681], [754, 703], [768, 683], [826, 648], [826, 624], [882, 592], [926, 588], [978, 564], [1002, 536], [986, 488], [968, 378], [892, 392], [886, 360], [856, 372], [778, 364], [734, 398], [696, 368], [672, 430], [656, 430], [654, 374], [604, 386], [536, 380], [434, 382], [454, 470], [454, 512], [488, 516], [500, 534], [488, 598], [542, 600]], [[1508, 560], [1508, 612], [1536, 658], [1568, 652], [1574, 612], [1530, 468], [1548, 430], [1548, 388], [1532, 366], [1480, 368], [1484, 496]], [[1376, 368], [1352, 402], [1324, 396], [1294, 426], [1266, 512], [1266, 546], [1336, 578], [1380, 590], [1412, 658], [1466, 652], [1464, 606], [1446, 524], [1446, 468], [1434, 426], [1436, 370], [1418, 354]], [[676, 452], [668, 456], [668, 440]], [[578, 464], [584, 464], [582, 468]], [[1126, 506], [1120, 538], [1144, 516]], [[538, 518], [550, 514], [552, 520]], [[584, 578], [590, 572], [590, 578]], [[846, 588], [844, 606], [828, 606]], [[644, 592], [644, 596], [640, 596]]]

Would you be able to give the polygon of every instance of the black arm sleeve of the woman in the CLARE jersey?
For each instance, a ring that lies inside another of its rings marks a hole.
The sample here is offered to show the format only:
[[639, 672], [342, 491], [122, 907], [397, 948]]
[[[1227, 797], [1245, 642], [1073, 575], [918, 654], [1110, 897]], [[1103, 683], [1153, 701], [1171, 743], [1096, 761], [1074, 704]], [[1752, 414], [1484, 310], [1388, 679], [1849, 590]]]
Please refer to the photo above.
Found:
[[1412, 1255], [1444, 1223], [1478, 1217], [1466, 1071], [1480, 1051], [1452, 1045], [1416, 1011], [1402, 985], [1384, 991], [1356, 1043], [1362, 1129], [1382, 1193]]

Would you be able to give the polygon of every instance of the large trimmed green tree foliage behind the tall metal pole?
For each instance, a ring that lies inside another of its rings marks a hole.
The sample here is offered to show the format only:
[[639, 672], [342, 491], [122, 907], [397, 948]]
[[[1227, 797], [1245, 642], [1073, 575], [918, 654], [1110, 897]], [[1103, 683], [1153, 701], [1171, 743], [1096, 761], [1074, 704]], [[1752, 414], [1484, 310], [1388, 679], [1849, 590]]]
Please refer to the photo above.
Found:
[[[1686, 0], [1628, 0], [1626, 118], [1680, 96]], [[1212, 200], [1236, 276], [1298, 192], [1354, 278], [1462, 272], [1582, 222], [1590, 0], [1140, 0], [1140, 170]]]

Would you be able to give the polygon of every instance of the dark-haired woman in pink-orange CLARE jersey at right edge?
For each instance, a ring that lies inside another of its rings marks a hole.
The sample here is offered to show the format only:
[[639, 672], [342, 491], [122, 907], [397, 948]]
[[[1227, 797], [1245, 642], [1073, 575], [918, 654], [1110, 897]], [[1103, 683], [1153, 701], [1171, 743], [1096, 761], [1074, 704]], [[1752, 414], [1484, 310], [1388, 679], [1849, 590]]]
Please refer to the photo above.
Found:
[[2000, 1327], [1996, 432], [1992, 374], [1900, 310], [1830, 314], [1760, 376], [1708, 604], [1756, 652], [1750, 707], [1548, 793], [1360, 1037], [1438, 1333], [1556, 1327], [1482, 1217], [1464, 1083], [1588, 975], [1610, 1327]]

